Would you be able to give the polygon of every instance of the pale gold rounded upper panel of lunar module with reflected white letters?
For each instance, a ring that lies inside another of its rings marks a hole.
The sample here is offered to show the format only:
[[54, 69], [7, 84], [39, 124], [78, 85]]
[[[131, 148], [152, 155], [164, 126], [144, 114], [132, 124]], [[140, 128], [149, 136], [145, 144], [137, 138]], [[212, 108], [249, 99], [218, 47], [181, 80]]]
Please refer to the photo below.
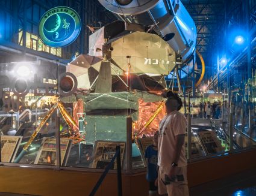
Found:
[[112, 59], [129, 73], [167, 75], [175, 66], [175, 52], [155, 34], [133, 32], [114, 41], [111, 46], [114, 49]]

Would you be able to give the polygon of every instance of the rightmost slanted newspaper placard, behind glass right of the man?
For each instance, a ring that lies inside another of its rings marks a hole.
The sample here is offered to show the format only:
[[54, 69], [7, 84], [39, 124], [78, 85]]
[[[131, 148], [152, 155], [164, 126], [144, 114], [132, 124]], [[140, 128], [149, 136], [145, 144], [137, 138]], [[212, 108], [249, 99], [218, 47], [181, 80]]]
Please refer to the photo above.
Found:
[[216, 132], [201, 131], [198, 134], [208, 154], [223, 152], [224, 149], [220, 143], [220, 140], [217, 138]]

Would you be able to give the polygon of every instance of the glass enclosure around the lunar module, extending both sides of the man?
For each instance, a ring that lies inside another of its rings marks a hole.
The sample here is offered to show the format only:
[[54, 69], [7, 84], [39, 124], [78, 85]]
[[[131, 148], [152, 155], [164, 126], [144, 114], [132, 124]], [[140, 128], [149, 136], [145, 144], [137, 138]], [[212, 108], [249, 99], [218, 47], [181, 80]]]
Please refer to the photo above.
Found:
[[[20, 71], [20, 67], [25, 71]], [[161, 96], [166, 91], [163, 77], [146, 74], [118, 77], [112, 73], [111, 92], [97, 92], [98, 83], [93, 84], [92, 70], [86, 73], [90, 73], [89, 89], [77, 88], [79, 76], [67, 70], [72, 71], [72, 64], [67, 67], [49, 62], [1, 64], [1, 164], [101, 171], [113, 158], [116, 145], [120, 145], [122, 170], [145, 171], [145, 149], [152, 144], [152, 136], [165, 115], [165, 98]], [[129, 88], [125, 87], [125, 81], [131, 82]], [[191, 101], [200, 103], [202, 99], [187, 98], [190, 104], [184, 101], [186, 112], [181, 110], [188, 122], [189, 162], [255, 146], [254, 107], [248, 105], [248, 111], [240, 114], [236, 109], [237, 114], [233, 114], [228, 113], [225, 105], [228, 103], [223, 102], [219, 105], [219, 119], [213, 116], [207, 119], [205, 107], [199, 106], [199, 114], [203, 114], [195, 118]], [[234, 102], [231, 105], [239, 107]], [[239, 119], [244, 120], [243, 129]], [[112, 169], [115, 168], [113, 165]]]

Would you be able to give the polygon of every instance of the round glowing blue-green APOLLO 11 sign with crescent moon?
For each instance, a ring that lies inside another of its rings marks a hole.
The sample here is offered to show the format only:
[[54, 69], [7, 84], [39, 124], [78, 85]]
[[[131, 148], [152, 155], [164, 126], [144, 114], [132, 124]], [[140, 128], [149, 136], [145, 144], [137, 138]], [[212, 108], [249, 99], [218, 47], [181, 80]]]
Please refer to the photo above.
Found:
[[80, 34], [81, 19], [69, 7], [55, 7], [46, 11], [39, 21], [39, 37], [47, 46], [64, 47]]

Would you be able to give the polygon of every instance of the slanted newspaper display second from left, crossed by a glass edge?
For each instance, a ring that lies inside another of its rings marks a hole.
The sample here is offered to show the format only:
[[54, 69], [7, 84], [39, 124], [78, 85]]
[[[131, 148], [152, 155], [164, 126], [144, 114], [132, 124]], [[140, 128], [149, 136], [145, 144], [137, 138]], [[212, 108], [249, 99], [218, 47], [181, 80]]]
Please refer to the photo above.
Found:
[[[65, 166], [67, 164], [71, 146], [72, 140], [68, 138], [60, 138], [60, 165]], [[34, 164], [57, 165], [56, 138], [43, 138], [42, 145], [37, 153]]]

